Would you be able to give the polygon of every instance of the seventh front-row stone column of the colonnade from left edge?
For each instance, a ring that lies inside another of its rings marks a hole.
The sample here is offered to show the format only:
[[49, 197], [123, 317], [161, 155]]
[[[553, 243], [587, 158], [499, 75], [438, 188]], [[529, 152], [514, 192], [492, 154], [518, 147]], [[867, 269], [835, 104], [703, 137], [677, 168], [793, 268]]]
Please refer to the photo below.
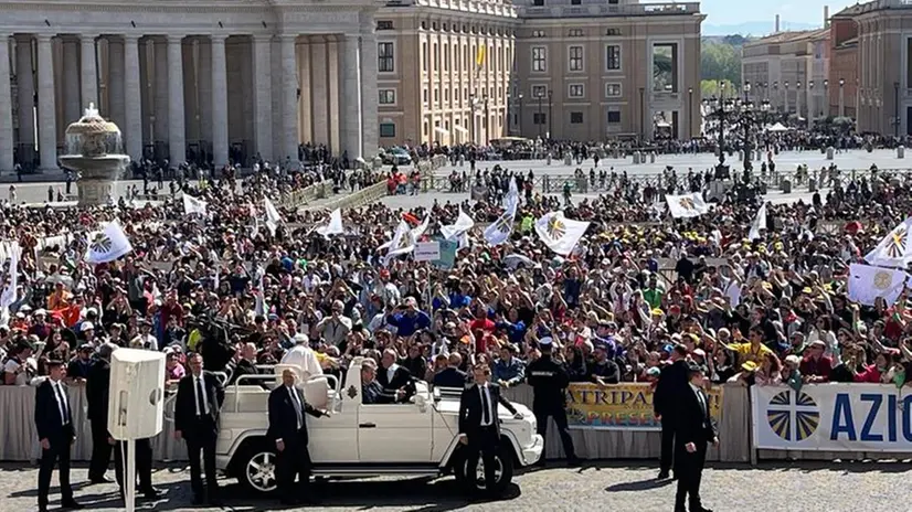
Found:
[[[284, 40], [283, 40], [283, 44]], [[273, 154], [273, 38], [253, 36], [253, 115], [256, 152], [267, 161], [285, 160]], [[297, 151], [295, 152], [297, 154]], [[294, 156], [293, 156], [294, 158]]]

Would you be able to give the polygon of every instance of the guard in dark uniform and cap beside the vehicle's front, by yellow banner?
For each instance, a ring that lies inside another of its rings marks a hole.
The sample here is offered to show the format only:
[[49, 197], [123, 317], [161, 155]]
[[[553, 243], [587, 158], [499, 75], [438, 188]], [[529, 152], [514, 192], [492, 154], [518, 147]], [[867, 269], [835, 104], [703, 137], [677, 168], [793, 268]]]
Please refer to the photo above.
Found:
[[[532, 399], [532, 412], [535, 414], [538, 431], [542, 438], [548, 433], [548, 418], [554, 418], [558, 425], [558, 433], [561, 435], [561, 442], [564, 446], [568, 465], [579, 466], [580, 459], [573, 449], [573, 439], [566, 428], [566, 386], [570, 385], [570, 376], [562, 364], [551, 359], [553, 341], [551, 338], [539, 340], [541, 358], [531, 362], [526, 367], [526, 375], [529, 385], [534, 390]], [[539, 465], [544, 466], [544, 457], [539, 460]]]

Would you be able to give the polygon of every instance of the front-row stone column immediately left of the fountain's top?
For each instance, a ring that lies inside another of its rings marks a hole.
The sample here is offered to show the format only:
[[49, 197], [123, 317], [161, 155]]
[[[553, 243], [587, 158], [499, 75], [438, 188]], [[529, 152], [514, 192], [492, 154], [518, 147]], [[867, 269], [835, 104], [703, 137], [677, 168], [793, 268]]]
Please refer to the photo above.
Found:
[[[57, 114], [54, 98], [54, 52], [51, 34], [38, 35], [38, 128], [41, 169], [57, 168]], [[74, 119], [76, 120], [76, 119]]]

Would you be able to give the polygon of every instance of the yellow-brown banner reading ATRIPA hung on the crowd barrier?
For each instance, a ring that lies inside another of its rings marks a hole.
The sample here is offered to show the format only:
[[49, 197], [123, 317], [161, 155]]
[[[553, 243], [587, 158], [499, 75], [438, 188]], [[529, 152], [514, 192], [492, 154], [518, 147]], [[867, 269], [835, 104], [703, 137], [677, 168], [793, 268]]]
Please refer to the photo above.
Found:
[[[710, 416], [718, 423], [722, 387], [713, 387], [707, 394]], [[653, 386], [647, 383], [571, 384], [566, 390], [566, 420], [570, 428], [661, 430], [661, 423], [653, 414]]]

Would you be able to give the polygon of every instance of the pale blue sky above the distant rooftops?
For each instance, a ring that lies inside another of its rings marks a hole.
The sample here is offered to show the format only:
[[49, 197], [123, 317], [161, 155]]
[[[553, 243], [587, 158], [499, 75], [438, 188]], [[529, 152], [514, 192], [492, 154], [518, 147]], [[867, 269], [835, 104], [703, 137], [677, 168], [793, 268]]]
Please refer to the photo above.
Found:
[[[650, 0], [653, 1], [653, 0]], [[863, 0], [860, 3], [866, 3]], [[824, 21], [824, 6], [830, 15], [859, 3], [857, 0], [702, 0], [700, 10], [707, 14], [707, 23], [713, 25], [766, 21], [773, 23], [781, 14], [783, 23], [819, 23]]]

